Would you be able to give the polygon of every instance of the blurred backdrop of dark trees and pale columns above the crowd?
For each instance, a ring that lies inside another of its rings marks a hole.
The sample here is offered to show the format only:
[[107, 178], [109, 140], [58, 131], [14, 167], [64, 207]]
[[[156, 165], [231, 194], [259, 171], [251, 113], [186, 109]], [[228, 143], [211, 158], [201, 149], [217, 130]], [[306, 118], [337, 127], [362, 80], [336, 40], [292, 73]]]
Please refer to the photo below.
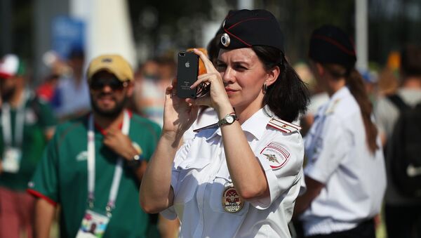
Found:
[[206, 47], [235, 8], [274, 13], [291, 62], [307, 60], [309, 34], [323, 23], [354, 37], [362, 68], [384, 65], [402, 44], [421, 42], [418, 0], [1, 0], [0, 54], [27, 59], [34, 84], [46, 74], [43, 56], [51, 50], [66, 58], [80, 47], [88, 59], [118, 52], [136, 67], [148, 58]]

